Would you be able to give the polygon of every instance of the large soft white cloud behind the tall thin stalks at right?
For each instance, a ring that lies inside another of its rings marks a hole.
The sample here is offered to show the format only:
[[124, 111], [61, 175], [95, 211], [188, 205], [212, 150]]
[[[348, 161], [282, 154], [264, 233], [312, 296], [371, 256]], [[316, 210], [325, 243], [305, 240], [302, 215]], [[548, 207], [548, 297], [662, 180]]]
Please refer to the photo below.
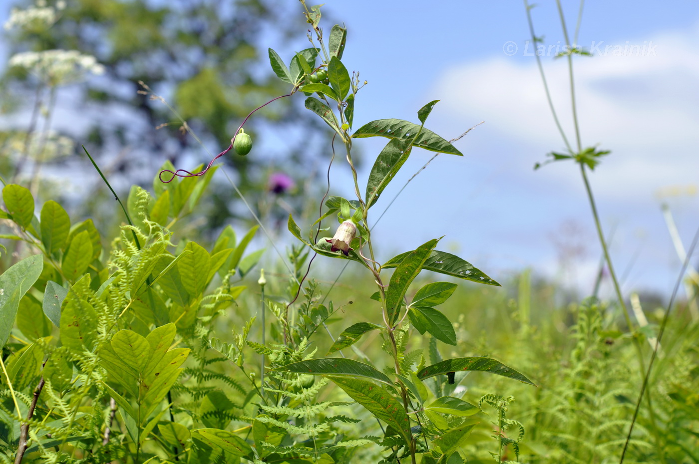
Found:
[[[631, 56], [615, 56], [614, 48], [605, 54], [606, 45], [626, 46], [610, 42], [599, 48], [598, 56], [575, 57], [582, 144], [612, 150], [593, 176], [601, 198], [647, 203], [661, 187], [698, 181], [699, 51], [693, 45], [698, 41], [699, 24], [656, 34], [646, 40], [645, 52], [633, 49]], [[629, 50], [631, 45], [642, 47], [644, 41], [629, 41]], [[542, 60], [554, 104], [574, 144], [567, 63]], [[443, 102], [449, 117], [485, 119], [489, 129], [519, 144], [522, 150], [511, 157], [531, 157], [533, 163], [542, 158], [540, 147], [563, 147], [533, 56], [526, 62], [503, 55], [454, 66], [431, 94], [450, 96]], [[556, 170], [556, 177], [556, 184], [579, 184], [575, 169]], [[540, 180], [554, 182], [549, 176]]]

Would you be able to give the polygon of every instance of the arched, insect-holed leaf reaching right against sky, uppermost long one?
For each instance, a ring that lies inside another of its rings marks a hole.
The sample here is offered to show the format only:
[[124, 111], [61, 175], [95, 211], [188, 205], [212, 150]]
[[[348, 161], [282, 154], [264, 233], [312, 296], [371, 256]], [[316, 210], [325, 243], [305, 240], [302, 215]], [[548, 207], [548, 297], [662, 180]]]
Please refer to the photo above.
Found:
[[428, 129], [421, 129], [417, 124], [412, 122], [403, 121], [403, 119], [377, 119], [372, 122], [364, 124], [359, 129], [354, 131], [352, 137], [388, 137], [388, 138], [404, 138], [412, 139], [415, 134], [420, 131], [420, 135], [417, 137], [413, 145], [416, 147], [424, 148], [425, 150], [430, 150], [431, 152], [447, 153], [447, 154], [457, 154], [463, 156], [463, 153], [456, 150], [456, 147], [447, 140], [441, 138], [433, 131]]

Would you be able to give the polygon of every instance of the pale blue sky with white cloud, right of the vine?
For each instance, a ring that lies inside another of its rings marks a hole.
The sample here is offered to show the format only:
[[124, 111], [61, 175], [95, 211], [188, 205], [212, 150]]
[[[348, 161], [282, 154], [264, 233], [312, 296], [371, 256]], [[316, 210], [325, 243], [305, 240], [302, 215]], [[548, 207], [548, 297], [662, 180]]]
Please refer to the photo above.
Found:
[[[0, 0], [1, 22], [9, 5]], [[571, 29], [578, 6], [565, 2]], [[440, 155], [392, 205], [375, 229], [380, 259], [445, 235], [440, 249], [496, 280], [531, 267], [587, 293], [600, 247], [577, 168], [557, 163], [533, 171], [564, 146], [527, 43], [523, 3], [330, 0], [323, 8], [347, 25], [343, 62], [369, 82], [357, 96], [355, 129], [386, 117], [416, 121], [417, 110], [434, 99], [441, 101], [426, 126], [447, 139], [484, 121], [456, 143], [463, 158]], [[563, 45], [555, 2], [538, 2], [533, 19], [545, 44]], [[280, 52], [289, 45], [270, 39]], [[612, 150], [591, 182], [605, 231], [614, 230], [617, 272], [626, 275], [625, 291], [668, 293], [680, 263], [661, 201], [685, 246], [699, 226], [699, 2], [587, 2], [578, 43], [597, 55], [575, 60], [579, 119], [584, 146]], [[565, 61], [543, 61], [572, 137]], [[385, 141], [354, 143], [366, 154], [360, 179]], [[373, 217], [431, 156], [415, 150]], [[336, 164], [333, 188], [350, 197], [348, 181]], [[563, 267], [566, 250], [577, 254]]]

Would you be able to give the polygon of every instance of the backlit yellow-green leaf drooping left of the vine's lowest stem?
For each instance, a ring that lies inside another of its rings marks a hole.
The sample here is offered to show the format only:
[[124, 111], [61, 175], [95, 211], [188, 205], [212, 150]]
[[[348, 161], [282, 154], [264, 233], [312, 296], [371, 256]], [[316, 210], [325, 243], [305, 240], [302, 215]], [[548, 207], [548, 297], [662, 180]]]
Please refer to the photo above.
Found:
[[330, 377], [341, 389], [357, 403], [366, 407], [377, 419], [381, 419], [396, 430], [405, 443], [410, 443], [410, 419], [405, 414], [403, 405], [382, 386], [362, 379], [347, 377]]

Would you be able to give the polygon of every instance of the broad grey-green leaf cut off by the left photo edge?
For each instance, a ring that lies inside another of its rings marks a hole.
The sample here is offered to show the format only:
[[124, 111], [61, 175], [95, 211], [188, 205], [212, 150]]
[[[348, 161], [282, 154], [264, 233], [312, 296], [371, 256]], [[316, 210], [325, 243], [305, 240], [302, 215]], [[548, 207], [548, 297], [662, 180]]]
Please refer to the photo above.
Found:
[[43, 256], [22, 259], [0, 275], [0, 347], [4, 347], [15, 324], [24, 293], [38, 280], [43, 270]]

